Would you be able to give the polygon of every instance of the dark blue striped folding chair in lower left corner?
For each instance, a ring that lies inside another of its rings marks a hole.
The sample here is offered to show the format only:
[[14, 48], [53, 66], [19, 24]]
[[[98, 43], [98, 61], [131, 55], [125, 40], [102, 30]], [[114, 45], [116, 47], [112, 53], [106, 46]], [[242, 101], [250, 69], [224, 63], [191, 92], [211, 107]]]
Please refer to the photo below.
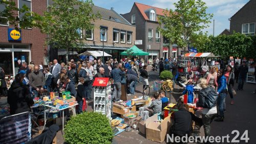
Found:
[[6, 116], [0, 120], [0, 143], [28, 141], [29, 112]]

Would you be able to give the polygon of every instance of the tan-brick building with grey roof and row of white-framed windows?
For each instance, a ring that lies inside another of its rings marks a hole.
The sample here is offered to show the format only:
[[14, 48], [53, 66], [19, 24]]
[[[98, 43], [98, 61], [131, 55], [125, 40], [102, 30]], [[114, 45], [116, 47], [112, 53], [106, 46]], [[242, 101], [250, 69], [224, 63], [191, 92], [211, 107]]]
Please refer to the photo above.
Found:
[[[80, 30], [86, 40], [80, 52], [70, 50], [70, 55], [74, 54], [71, 58], [76, 58], [75, 55], [85, 51], [102, 51], [104, 43], [104, 52], [119, 60], [122, 57], [120, 53], [134, 45], [136, 26], [131, 25], [114, 8], [108, 10], [93, 6], [92, 9], [95, 14], [99, 12], [101, 18], [91, 22], [94, 25], [93, 30]], [[101, 31], [105, 31], [104, 38]], [[59, 59], [65, 59], [65, 54], [66, 50], [58, 50]]]

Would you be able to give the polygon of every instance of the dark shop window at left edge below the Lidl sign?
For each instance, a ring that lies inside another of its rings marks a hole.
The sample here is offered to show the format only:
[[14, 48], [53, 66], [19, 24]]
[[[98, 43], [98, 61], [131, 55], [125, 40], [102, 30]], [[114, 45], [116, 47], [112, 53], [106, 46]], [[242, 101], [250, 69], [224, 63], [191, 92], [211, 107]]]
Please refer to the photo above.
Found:
[[0, 53], [0, 67], [2, 67], [5, 71], [5, 75], [12, 75], [12, 53], [3, 52]]

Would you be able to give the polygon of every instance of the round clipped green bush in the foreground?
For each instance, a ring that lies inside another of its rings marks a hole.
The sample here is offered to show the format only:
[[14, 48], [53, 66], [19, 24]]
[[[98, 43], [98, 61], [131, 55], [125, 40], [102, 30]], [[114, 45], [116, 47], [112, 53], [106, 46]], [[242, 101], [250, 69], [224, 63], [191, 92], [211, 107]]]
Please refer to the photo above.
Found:
[[64, 132], [67, 143], [111, 143], [114, 137], [109, 119], [96, 112], [71, 117]]

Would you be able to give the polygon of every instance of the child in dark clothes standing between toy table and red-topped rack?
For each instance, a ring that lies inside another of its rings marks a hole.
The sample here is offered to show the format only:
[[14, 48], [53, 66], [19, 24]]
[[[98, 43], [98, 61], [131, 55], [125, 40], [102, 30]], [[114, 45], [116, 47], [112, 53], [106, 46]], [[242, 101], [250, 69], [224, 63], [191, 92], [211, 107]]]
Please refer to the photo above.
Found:
[[82, 104], [83, 104], [83, 99], [84, 99], [84, 89], [83, 89], [83, 83], [84, 83], [84, 78], [80, 77], [78, 78], [78, 85], [77, 85], [77, 103], [78, 103], [78, 113], [82, 113]]

